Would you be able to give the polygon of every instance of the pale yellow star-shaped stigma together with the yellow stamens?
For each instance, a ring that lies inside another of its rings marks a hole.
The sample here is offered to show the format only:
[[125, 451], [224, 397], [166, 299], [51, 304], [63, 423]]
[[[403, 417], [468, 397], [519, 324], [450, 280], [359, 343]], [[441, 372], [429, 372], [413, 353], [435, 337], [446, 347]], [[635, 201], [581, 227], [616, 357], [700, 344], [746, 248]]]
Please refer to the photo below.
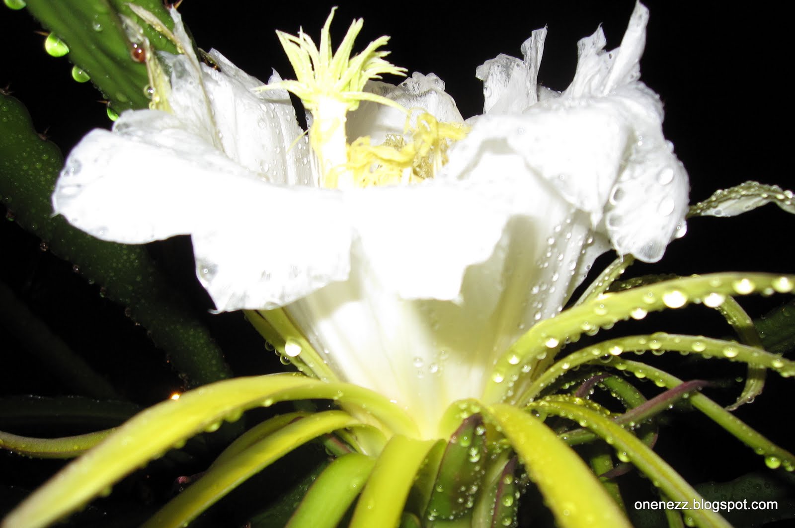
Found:
[[[362, 29], [362, 19], [351, 24], [342, 43], [332, 54], [331, 26], [334, 10], [320, 33], [320, 49], [306, 33], [298, 36], [277, 32], [282, 47], [295, 69], [297, 80], [284, 80], [261, 89], [284, 88], [301, 98], [312, 112], [309, 144], [317, 157], [316, 184], [327, 188], [370, 187], [385, 184], [409, 184], [432, 177], [447, 162], [453, 142], [465, 135], [463, 125], [440, 123], [427, 112], [412, 120], [411, 112], [382, 95], [363, 91], [368, 80], [381, 79], [382, 73], [405, 75], [378, 51], [389, 41], [380, 37], [356, 56], [351, 57], [355, 37]], [[405, 133], [389, 134], [381, 145], [370, 145], [370, 138], [347, 143], [345, 122], [348, 111], [361, 101], [394, 107], [407, 115]], [[411, 124], [413, 121], [413, 125]]]

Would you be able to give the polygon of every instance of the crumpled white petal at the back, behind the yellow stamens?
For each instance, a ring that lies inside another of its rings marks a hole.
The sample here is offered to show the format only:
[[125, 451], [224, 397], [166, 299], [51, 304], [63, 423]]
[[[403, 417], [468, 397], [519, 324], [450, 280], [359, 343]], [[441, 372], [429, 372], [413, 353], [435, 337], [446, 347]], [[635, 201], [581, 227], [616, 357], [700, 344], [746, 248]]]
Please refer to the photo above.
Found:
[[[444, 82], [436, 75], [413, 73], [409, 79], [395, 86], [380, 81], [370, 81], [366, 91], [382, 95], [409, 110], [428, 112], [440, 122], [463, 122], [456, 102], [444, 91]], [[416, 118], [413, 112], [412, 118]], [[378, 145], [386, 134], [402, 135], [406, 115], [392, 107], [364, 101], [359, 108], [347, 116], [346, 132], [349, 142], [355, 138], [370, 136], [370, 142]]]

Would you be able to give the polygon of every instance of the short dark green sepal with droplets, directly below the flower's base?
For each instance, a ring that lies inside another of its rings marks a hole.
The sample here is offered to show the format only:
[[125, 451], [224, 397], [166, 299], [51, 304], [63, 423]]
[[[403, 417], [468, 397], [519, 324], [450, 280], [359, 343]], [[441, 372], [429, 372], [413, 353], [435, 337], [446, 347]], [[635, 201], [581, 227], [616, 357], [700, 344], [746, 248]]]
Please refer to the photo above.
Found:
[[471, 510], [483, 484], [486, 464], [486, 427], [473, 414], [450, 437], [433, 484], [425, 518], [460, 518]]

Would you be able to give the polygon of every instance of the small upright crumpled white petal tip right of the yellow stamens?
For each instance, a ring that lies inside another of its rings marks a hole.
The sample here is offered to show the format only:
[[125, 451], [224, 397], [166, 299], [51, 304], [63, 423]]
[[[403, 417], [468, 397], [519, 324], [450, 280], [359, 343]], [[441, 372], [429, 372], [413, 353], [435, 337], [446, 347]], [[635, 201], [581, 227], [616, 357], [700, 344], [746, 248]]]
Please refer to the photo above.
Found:
[[483, 81], [484, 114], [516, 114], [538, 101], [538, 68], [547, 30], [536, 29], [522, 44], [524, 60], [500, 54], [475, 70]]

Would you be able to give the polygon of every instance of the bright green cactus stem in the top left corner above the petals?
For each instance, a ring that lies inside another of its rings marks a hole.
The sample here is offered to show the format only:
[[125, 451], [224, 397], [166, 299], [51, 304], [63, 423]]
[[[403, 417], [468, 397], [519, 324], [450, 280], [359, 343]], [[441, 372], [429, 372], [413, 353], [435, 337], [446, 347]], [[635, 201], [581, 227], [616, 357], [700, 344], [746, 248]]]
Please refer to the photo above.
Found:
[[[28, 11], [46, 29], [68, 45], [68, 59], [91, 77], [117, 113], [130, 108], [145, 108], [149, 84], [144, 57], [134, 48], [122, 18], [136, 21], [153, 49], [176, 53], [175, 46], [149, 24], [137, 17], [128, 3], [143, 7], [166, 27], [173, 21], [161, 0], [28, 0]], [[134, 60], [138, 56], [138, 60]]]

